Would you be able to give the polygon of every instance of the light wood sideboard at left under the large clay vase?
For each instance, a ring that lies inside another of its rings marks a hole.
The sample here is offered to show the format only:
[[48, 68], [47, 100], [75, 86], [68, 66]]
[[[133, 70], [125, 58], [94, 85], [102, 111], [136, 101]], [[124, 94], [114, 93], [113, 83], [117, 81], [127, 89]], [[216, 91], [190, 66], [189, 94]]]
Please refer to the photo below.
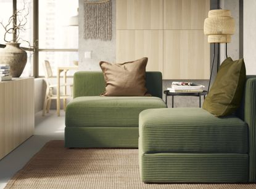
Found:
[[0, 82], [0, 159], [34, 133], [34, 78]]

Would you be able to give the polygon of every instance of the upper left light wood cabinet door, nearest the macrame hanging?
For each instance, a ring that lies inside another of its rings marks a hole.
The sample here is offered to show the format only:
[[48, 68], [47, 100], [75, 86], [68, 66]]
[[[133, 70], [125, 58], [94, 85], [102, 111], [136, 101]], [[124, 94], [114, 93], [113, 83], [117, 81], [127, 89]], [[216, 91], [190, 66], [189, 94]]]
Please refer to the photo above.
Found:
[[162, 29], [163, 0], [117, 0], [117, 29]]

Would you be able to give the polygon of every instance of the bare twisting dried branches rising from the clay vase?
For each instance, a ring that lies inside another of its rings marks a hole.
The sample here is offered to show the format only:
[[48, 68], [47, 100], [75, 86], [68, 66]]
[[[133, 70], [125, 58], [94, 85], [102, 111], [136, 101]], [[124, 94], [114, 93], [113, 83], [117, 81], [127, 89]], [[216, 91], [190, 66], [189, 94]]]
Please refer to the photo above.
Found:
[[[23, 7], [17, 10], [8, 20], [7, 25], [4, 25], [0, 21], [0, 25], [4, 28], [6, 33], [4, 33], [4, 41], [6, 42], [19, 42], [20, 41], [20, 31], [25, 31], [25, 25], [28, 22], [29, 9], [25, 0], [23, 1]], [[12, 34], [13, 39], [7, 40], [7, 35]], [[23, 40], [23, 39], [21, 39]], [[30, 43], [29, 43], [30, 45]], [[31, 47], [31, 45], [30, 45]]]

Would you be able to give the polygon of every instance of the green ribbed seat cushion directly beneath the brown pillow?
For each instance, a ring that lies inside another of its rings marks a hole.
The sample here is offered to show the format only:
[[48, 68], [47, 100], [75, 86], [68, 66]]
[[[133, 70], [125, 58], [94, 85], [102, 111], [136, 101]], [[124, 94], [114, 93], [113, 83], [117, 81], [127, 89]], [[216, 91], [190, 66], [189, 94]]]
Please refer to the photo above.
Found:
[[138, 127], [142, 110], [164, 107], [163, 100], [153, 96], [83, 96], [68, 103], [65, 125]]

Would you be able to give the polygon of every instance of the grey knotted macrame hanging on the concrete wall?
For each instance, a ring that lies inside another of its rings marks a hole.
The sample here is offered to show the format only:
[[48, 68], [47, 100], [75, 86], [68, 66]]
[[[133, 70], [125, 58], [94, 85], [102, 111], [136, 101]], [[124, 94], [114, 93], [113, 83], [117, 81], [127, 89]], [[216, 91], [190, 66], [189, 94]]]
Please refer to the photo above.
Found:
[[107, 1], [85, 1], [85, 39], [111, 40], [112, 4]]

